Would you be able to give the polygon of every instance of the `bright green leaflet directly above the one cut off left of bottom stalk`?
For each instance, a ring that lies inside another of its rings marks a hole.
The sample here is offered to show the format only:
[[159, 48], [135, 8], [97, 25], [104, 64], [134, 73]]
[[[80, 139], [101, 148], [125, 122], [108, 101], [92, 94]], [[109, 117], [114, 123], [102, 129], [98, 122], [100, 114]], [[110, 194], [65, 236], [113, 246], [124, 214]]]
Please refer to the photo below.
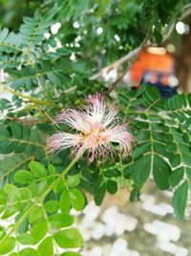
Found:
[[37, 222], [32, 226], [32, 238], [33, 244], [37, 244], [40, 240], [42, 240], [48, 232], [48, 223], [47, 221]]

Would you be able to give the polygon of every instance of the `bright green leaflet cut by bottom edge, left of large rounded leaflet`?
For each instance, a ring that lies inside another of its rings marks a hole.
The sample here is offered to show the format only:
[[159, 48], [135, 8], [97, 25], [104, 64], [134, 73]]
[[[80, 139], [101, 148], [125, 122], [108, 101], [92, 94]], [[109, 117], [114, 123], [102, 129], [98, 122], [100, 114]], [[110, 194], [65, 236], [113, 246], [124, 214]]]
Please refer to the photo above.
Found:
[[38, 245], [39, 256], [53, 256], [53, 238], [47, 237]]

